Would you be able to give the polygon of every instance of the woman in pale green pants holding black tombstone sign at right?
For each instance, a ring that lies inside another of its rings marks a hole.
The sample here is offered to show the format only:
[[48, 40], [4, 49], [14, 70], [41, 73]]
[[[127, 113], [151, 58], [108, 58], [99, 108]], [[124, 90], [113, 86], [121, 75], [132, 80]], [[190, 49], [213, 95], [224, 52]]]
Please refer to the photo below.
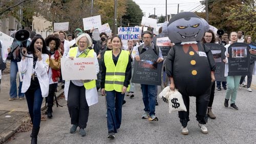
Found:
[[238, 92], [238, 87], [239, 87], [239, 82], [241, 79], [241, 76], [228, 76], [228, 47], [229, 45], [237, 42], [238, 40], [238, 34], [236, 32], [231, 32], [230, 33], [230, 43], [225, 45], [226, 47], [226, 52], [225, 52], [225, 56], [226, 59], [224, 59], [223, 61], [226, 63], [225, 64], [225, 77], [227, 77], [227, 91], [226, 91], [226, 97], [225, 97], [225, 101], [224, 101], [224, 106], [228, 107], [228, 101], [231, 97], [231, 103], [230, 103], [230, 108], [234, 109], [234, 110], [238, 110], [238, 107], [236, 105], [236, 99], [237, 99], [237, 92]]

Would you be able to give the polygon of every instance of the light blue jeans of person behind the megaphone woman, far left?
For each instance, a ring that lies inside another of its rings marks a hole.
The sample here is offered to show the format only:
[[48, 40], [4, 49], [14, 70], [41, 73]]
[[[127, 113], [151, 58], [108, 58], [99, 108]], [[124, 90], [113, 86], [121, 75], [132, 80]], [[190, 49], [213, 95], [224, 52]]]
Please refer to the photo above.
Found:
[[[18, 65], [16, 61], [11, 61], [10, 66], [10, 98], [17, 98], [17, 83], [16, 83], [16, 76], [18, 73]], [[22, 82], [19, 80], [19, 86], [18, 86], [18, 97], [24, 98], [24, 93], [22, 91]]]

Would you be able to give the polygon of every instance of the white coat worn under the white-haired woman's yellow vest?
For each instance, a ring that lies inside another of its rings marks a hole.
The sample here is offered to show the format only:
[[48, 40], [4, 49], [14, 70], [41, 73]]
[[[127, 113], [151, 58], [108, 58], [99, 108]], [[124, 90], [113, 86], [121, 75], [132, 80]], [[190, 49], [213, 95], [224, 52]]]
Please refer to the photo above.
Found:
[[[69, 57], [69, 53], [68, 53], [67, 57]], [[94, 63], [95, 63], [95, 68], [96, 68], [95, 73], [98, 74], [99, 73], [99, 63], [98, 63], [97, 55], [95, 52], [94, 52]], [[68, 101], [69, 85], [70, 85], [70, 81], [66, 80], [65, 88], [64, 88], [64, 94], [65, 94], [66, 101]], [[97, 92], [96, 87], [94, 87], [92, 89], [86, 89], [86, 101], [87, 101], [88, 106], [98, 103], [98, 92]]]

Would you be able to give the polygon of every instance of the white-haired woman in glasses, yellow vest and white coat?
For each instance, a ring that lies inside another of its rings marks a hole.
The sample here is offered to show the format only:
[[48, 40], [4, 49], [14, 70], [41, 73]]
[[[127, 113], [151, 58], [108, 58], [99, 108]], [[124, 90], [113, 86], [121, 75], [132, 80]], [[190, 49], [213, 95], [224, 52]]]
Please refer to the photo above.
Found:
[[[92, 49], [92, 39], [86, 34], [82, 33], [76, 38], [77, 47], [72, 47], [69, 50], [67, 57], [70, 59], [75, 58], [88, 58], [93, 57], [96, 71], [92, 73], [99, 73], [99, 64], [96, 53]], [[75, 75], [75, 74], [74, 74]], [[86, 74], [84, 74], [86, 75]], [[89, 106], [98, 103], [98, 93], [96, 89], [95, 80], [71, 80], [65, 82], [65, 97], [68, 100], [68, 109], [71, 117], [70, 133], [75, 133], [79, 126], [79, 134], [86, 136]]]

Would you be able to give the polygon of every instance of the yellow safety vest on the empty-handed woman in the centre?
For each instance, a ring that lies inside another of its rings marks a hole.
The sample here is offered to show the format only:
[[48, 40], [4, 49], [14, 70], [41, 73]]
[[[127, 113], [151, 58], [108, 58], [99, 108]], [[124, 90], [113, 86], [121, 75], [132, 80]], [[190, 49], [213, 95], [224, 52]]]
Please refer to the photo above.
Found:
[[122, 50], [115, 65], [112, 58], [112, 51], [106, 51], [104, 54], [104, 63], [106, 66], [105, 90], [122, 92], [125, 71], [129, 62], [129, 52]]

